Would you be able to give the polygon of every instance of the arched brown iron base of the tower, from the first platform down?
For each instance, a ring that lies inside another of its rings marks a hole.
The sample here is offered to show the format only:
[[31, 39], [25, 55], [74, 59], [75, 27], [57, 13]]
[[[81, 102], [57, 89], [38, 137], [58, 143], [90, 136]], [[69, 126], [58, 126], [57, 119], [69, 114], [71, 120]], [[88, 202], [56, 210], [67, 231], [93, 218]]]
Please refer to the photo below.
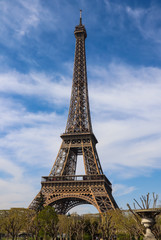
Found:
[[[82, 204], [92, 204], [99, 213], [118, 208], [112, 196], [111, 183], [103, 174], [42, 177], [41, 185], [45, 205], [53, 206], [59, 214], [66, 214]], [[29, 208], [34, 208], [36, 198]]]

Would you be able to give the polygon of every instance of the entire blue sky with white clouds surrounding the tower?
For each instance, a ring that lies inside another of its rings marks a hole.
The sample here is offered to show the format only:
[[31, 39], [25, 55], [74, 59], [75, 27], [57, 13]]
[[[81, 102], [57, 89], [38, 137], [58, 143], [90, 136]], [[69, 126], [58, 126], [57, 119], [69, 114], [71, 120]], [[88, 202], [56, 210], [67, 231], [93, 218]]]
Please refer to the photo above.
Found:
[[80, 9], [93, 131], [113, 195], [121, 208], [148, 192], [161, 199], [161, 2], [1, 0], [1, 209], [27, 207], [55, 161]]

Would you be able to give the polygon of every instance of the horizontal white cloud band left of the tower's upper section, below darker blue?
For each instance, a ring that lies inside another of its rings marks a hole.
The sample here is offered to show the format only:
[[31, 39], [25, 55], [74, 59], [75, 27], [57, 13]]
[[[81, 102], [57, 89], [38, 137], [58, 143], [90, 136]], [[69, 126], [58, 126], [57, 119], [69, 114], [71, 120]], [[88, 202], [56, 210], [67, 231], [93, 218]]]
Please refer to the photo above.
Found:
[[68, 78], [62, 75], [49, 76], [34, 72], [22, 74], [16, 71], [0, 74], [0, 92], [2, 93], [34, 96], [60, 104], [69, 99], [70, 91]]

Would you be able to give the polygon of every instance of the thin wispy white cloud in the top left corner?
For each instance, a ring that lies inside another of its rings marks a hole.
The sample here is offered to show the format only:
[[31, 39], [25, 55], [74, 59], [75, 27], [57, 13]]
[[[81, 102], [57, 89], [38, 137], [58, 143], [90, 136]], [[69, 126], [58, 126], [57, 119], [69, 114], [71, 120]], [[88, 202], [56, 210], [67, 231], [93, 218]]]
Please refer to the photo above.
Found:
[[21, 40], [23, 36], [33, 32], [33, 29], [37, 30], [40, 24], [41, 27], [45, 27], [48, 23], [48, 29], [52, 27], [54, 30], [57, 20], [49, 9], [41, 5], [39, 0], [34, 2], [6, 0], [0, 2], [0, 21], [1, 41], [3, 44], [12, 46], [15, 39]]

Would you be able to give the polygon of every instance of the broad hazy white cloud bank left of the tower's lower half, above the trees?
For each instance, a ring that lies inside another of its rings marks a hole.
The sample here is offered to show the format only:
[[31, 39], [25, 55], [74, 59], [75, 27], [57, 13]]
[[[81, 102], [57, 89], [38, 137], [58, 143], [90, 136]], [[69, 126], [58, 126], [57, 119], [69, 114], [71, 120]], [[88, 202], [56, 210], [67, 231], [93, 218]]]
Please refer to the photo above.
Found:
[[0, 205], [27, 207], [54, 163], [64, 120], [56, 113], [28, 112], [14, 100], [1, 104]]

